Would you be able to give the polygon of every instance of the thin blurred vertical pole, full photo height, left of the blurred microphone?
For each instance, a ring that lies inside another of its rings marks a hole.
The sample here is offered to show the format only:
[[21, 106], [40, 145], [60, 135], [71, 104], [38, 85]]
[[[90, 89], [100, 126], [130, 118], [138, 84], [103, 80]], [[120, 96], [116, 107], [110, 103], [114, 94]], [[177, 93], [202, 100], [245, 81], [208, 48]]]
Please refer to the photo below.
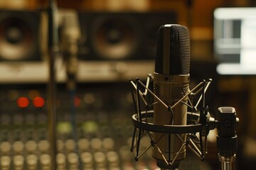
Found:
[[56, 91], [55, 91], [55, 54], [58, 52], [58, 34], [55, 26], [56, 5], [49, 0], [48, 8], [48, 54], [49, 54], [49, 81], [48, 81], [48, 137], [50, 142], [51, 169], [56, 167]]

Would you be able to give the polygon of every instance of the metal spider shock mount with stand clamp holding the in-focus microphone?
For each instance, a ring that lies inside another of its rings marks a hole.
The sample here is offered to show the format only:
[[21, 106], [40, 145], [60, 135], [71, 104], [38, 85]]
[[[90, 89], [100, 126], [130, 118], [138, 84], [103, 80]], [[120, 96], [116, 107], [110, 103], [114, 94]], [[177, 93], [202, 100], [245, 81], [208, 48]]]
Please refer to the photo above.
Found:
[[[235, 108], [233, 107], [220, 107], [218, 108], [219, 115], [218, 119], [210, 117], [208, 113], [208, 107], [205, 105], [206, 100], [206, 91], [210, 85], [211, 79], [208, 81], [202, 81], [196, 87], [194, 87], [190, 92], [183, 96], [190, 96], [188, 107], [192, 108], [191, 112], [187, 112], [187, 125], [157, 125], [152, 123], [154, 118], [154, 111], [151, 110], [151, 106], [154, 106], [155, 103], [162, 104], [166, 109], [171, 109], [180, 103], [177, 101], [173, 106], [166, 106], [161, 99], [154, 94], [153, 91], [149, 89], [149, 81], [153, 79], [151, 75], [148, 76], [146, 85], [142, 83], [139, 79], [136, 81], [129, 80], [131, 84], [132, 98], [134, 101], [135, 114], [132, 115], [132, 122], [134, 124], [134, 133], [132, 137], [132, 147], [131, 152], [136, 148], [136, 157], [135, 161], [139, 160], [139, 157], [150, 148], [156, 149], [163, 158], [163, 161], [166, 162], [166, 166], [161, 164], [159, 168], [161, 170], [173, 169], [176, 162], [176, 157], [178, 157], [178, 152], [174, 159], [165, 157], [159, 148], [158, 141], [154, 140], [152, 137], [152, 132], [159, 132], [164, 134], [176, 134], [179, 137], [180, 134], [185, 134], [187, 140], [182, 140], [182, 147], [188, 147], [196, 156], [202, 161], [206, 158], [207, 154], [207, 136], [210, 130], [217, 129], [217, 148], [219, 161], [221, 162], [222, 170], [233, 170], [235, 169], [235, 152], [238, 147], [238, 137], [236, 135], [236, 125], [239, 123], [239, 119], [236, 118]], [[143, 91], [144, 90], [144, 91]], [[193, 105], [194, 95], [200, 94], [196, 106]], [[153, 96], [157, 102], [152, 103], [150, 96]], [[198, 103], [203, 104], [200, 111], [198, 110]], [[142, 106], [141, 106], [142, 105]], [[144, 109], [142, 109], [144, 108]], [[199, 112], [199, 113], [198, 113]], [[143, 131], [142, 131], [143, 130]], [[199, 136], [195, 135], [198, 134]], [[139, 144], [142, 135], [148, 135], [150, 138], [150, 146], [144, 149], [142, 153], [139, 153]], [[204, 139], [204, 140], [203, 140]], [[170, 141], [169, 141], [170, 142]], [[181, 148], [179, 150], [181, 150]], [[169, 152], [170, 154], [171, 152]]]

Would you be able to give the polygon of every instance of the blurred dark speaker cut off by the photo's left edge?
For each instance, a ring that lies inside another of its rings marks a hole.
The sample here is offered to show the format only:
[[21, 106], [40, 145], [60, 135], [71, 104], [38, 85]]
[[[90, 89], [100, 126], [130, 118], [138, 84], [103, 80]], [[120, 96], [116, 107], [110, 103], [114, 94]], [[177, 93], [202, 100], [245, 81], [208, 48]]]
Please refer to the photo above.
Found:
[[0, 10], [0, 61], [41, 60], [40, 19], [37, 11]]

